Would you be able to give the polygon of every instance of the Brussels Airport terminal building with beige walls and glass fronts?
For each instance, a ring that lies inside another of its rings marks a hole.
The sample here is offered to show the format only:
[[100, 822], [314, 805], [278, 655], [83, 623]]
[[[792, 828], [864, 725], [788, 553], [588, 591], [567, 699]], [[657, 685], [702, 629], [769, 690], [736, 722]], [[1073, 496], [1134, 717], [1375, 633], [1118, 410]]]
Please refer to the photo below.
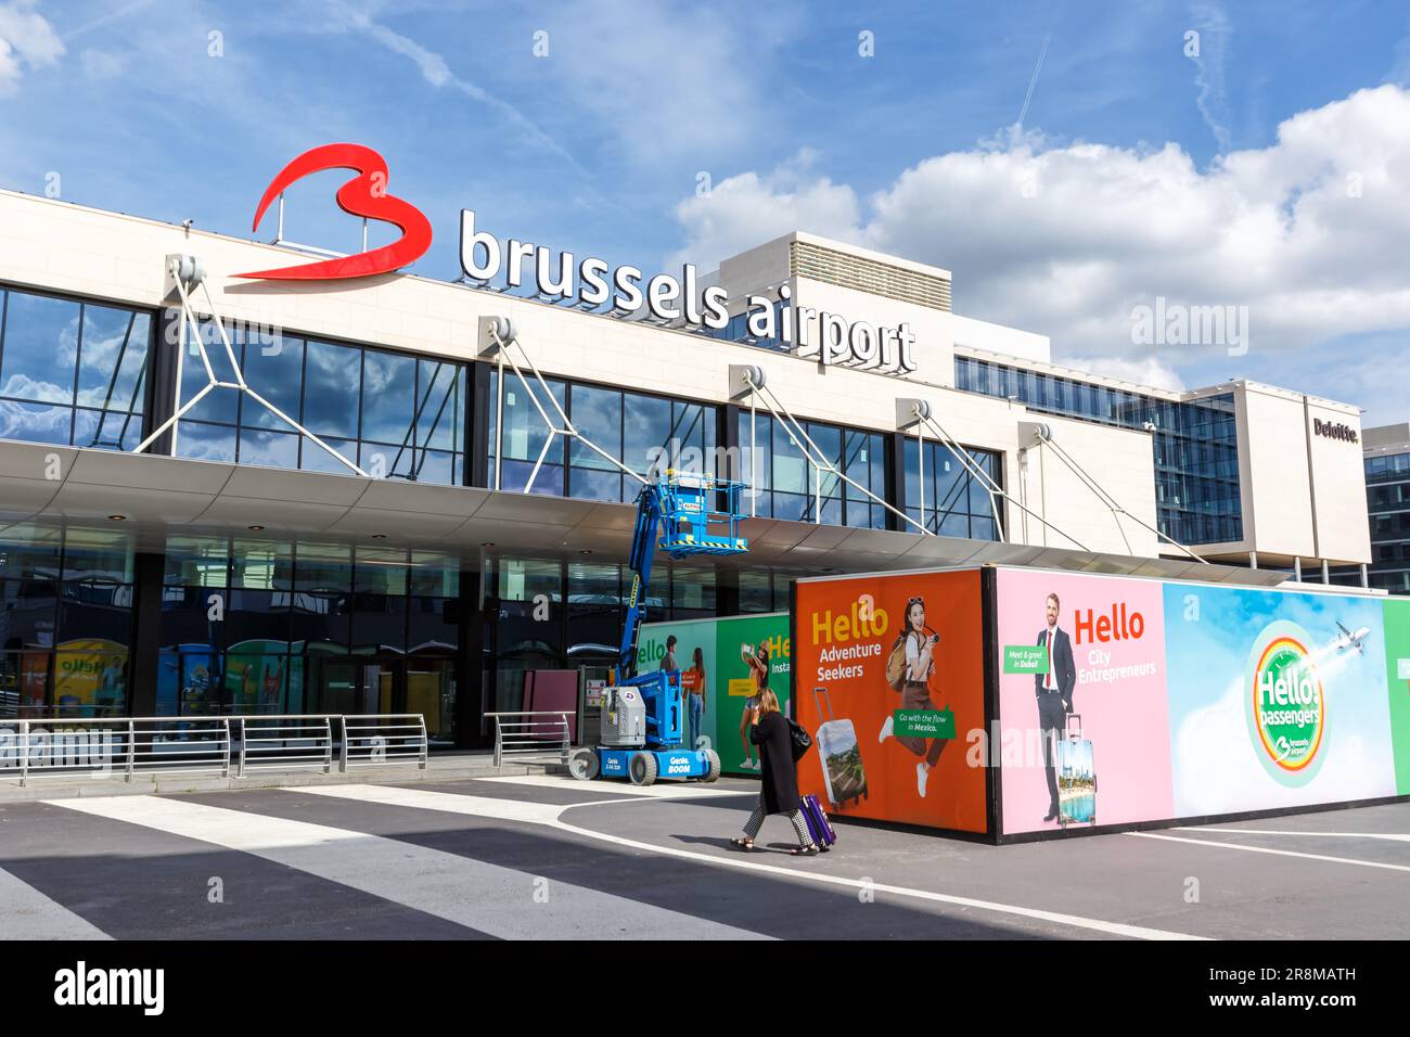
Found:
[[472, 216], [460, 281], [271, 281], [237, 275], [309, 253], [0, 192], [0, 715], [482, 744], [527, 670], [609, 665], [663, 467], [743, 481], [750, 553], [660, 562], [651, 618], [987, 560], [1365, 580], [1356, 406], [1066, 370], [949, 271], [804, 233], [601, 301], [623, 268]]

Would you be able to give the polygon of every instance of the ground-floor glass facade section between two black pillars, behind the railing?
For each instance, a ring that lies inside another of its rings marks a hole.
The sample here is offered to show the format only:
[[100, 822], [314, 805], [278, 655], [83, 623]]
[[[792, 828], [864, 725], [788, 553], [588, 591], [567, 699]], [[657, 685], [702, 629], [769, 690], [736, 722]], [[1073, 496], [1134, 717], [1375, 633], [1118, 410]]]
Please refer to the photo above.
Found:
[[458, 617], [434, 552], [171, 536], [157, 714], [423, 712], [453, 741]]

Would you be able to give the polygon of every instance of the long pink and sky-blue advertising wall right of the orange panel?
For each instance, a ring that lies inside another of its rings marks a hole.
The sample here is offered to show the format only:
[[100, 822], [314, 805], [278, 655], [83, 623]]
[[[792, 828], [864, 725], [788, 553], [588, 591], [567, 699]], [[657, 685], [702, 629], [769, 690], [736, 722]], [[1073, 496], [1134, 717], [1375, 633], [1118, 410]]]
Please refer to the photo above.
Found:
[[1410, 602], [1001, 569], [1005, 835], [1410, 793]]

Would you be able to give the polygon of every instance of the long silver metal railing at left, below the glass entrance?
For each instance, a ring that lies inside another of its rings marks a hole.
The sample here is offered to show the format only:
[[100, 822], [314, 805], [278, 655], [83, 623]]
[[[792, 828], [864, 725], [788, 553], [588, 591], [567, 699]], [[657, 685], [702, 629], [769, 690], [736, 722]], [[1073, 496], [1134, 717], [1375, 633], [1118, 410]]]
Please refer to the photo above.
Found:
[[0, 782], [21, 786], [32, 777], [131, 782], [134, 775], [244, 777], [307, 768], [327, 775], [334, 756], [344, 773], [413, 762], [424, 770], [429, 755], [419, 712], [0, 718]]

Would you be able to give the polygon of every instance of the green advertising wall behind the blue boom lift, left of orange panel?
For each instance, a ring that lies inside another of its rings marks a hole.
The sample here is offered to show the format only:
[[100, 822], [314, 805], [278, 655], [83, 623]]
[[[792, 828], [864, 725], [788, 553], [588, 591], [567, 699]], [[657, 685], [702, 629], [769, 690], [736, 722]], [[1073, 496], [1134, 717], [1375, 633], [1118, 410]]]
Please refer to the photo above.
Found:
[[637, 667], [660, 667], [671, 636], [685, 697], [687, 745], [715, 749], [726, 775], [759, 775], [759, 749], [749, 742], [744, 707], [767, 683], [780, 707], [788, 711], [792, 686], [788, 614], [643, 624]]

